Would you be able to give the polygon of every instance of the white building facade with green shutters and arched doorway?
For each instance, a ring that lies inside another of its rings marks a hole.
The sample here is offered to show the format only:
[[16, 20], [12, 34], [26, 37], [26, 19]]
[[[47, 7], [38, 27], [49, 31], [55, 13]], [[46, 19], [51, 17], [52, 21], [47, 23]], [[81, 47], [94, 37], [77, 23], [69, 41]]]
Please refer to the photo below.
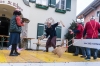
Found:
[[[55, 23], [61, 20], [66, 27], [59, 25], [56, 31], [57, 38], [63, 39], [70, 23], [76, 19], [76, 3], [77, 0], [0, 0], [0, 16], [8, 19], [5, 22], [9, 25], [14, 9], [20, 9], [22, 17], [29, 20], [23, 27], [21, 36], [29, 38], [43, 35], [44, 23], [49, 19]], [[3, 23], [3, 19], [0, 19]], [[6, 29], [9, 35], [9, 26]]]

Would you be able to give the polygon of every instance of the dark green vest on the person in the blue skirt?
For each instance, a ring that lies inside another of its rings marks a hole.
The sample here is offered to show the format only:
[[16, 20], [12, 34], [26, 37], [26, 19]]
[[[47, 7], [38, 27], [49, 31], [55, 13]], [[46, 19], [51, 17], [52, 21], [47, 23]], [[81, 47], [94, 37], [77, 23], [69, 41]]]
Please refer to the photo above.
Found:
[[17, 25], [17, 22], [16, 22], [16, 15], [13, 15], [11, 20], [10, 20], [10, 29], [9, 31], [10, 32], [18, 32], [18, 33], [21, 33], [21, 26], [18, 26]]

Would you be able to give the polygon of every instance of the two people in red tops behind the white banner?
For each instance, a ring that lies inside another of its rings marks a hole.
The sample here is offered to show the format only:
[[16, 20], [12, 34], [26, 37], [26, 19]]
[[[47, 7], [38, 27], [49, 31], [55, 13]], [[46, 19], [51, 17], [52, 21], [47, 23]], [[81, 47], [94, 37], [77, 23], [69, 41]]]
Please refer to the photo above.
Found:
[[[70, 30], [72, 31], [72, 30]], [[76, 33], [75, 39], [98, 39], [98, 34], [100, 33], [100, 25], [99, 22], [95, 21], [95, 17], [91, 17], [89, 22], [86, 22], [85, 27], [82, 26], [82, 24], [77, 23], [77, 29], [72, 31], [73, 33]], [[76, 46], [76, 52], [74, 53], [74, 56], [78, 56], [79, 54], [79, 48], [82, 50], [82, 58], [85, 58], [86, 60], [91, 59], [91, 50], [90, 48], [86, 47], [77, 47]], [[93, 49], [93, 59], [97, 59], [98, 55], [98, 49]]]

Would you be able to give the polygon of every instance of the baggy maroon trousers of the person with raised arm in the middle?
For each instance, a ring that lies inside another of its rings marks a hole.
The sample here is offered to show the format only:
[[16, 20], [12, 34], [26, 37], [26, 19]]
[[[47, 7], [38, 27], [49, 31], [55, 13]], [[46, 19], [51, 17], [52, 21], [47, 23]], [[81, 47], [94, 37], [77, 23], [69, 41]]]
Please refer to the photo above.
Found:
[[56, 36], [54, 36], [53, 38], [48, 38], [46, 42], [46, 52], [48, 52], [48, 48], [51, 46], [53, 48], [56, 48]]

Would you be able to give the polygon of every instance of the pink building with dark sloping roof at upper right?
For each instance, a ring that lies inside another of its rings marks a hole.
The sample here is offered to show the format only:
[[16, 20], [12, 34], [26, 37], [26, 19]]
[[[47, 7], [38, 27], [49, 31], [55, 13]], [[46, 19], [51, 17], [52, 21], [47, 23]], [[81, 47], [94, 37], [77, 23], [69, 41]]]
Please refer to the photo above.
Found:
[[100, 0], [94, 0], [88, 5], [79, 15], [78, 19], [84, 19], [84, 22], [88, 22], [94, 16], [96, 21], [100, 22]]

